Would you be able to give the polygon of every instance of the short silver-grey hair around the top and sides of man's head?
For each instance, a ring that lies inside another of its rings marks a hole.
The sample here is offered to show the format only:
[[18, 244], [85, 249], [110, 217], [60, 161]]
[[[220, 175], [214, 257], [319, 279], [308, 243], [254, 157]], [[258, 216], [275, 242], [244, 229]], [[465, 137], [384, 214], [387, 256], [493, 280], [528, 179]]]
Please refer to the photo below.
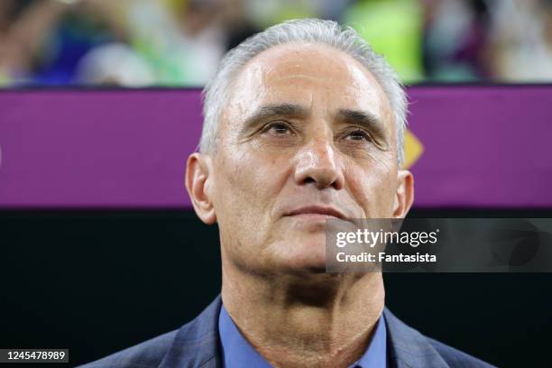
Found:
[[353, 28], [342, 27], [334, 21], [320, 19], [297, 19], [273, 25], [226, 53], [216, 70], [215, 77], [203, 89], [204, 123], [199, 151], [216, 152], [218, 123], [238, 72], [262, 51], [292, 42], [318, 42], [338, 51], [344, 51], [373, 74], [391, 103], [397, 131], [397, 157], [401, 167], [404, 158], [408, 102], [400, 78], [382, 55], [376, 54], [370, 44], [364, 41]]

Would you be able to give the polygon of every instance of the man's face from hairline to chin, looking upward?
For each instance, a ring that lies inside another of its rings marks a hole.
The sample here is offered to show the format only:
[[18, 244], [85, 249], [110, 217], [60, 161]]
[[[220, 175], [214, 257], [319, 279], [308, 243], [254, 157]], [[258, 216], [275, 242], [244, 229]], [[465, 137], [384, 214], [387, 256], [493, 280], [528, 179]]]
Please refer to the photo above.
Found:
[[328, 218], [403, 216], [389, 100], [344, 52], [262, 52], [235, 78], [217, 136], [208, 193], [223, 259], [244, 270], [324, 271]]

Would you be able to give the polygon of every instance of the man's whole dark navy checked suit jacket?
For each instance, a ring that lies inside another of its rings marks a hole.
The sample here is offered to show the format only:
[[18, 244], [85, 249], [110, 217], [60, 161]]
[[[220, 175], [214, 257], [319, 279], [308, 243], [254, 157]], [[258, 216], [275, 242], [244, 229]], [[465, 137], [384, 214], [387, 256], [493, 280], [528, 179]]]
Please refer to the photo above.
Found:
[[[82, 368], [215, 368], [222, 367], [218, 336], [218, 296], [198, 317], [179, 330], [129, 347]], [[391, 368], [492, 367], [408, 327], [383, 310]], [[249, 368], [249, 367], [244, 367]]]

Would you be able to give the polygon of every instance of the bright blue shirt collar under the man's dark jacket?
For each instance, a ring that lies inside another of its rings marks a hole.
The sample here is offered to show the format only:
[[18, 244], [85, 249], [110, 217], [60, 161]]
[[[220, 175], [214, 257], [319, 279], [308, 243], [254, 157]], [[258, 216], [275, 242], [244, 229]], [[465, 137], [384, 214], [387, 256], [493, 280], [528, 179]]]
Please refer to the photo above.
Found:
[[[218, 315], [218, 332], [222, 346], [223, 366], [225, 368], [271, 368], [261, 354], [249, 345], [235, 326], [232, 317], [223, 305]], [[363, 356], [351, 365], [351, 368], [387, 367], [387, 331], [383, 315], [378, 319], [372, 339]]]

